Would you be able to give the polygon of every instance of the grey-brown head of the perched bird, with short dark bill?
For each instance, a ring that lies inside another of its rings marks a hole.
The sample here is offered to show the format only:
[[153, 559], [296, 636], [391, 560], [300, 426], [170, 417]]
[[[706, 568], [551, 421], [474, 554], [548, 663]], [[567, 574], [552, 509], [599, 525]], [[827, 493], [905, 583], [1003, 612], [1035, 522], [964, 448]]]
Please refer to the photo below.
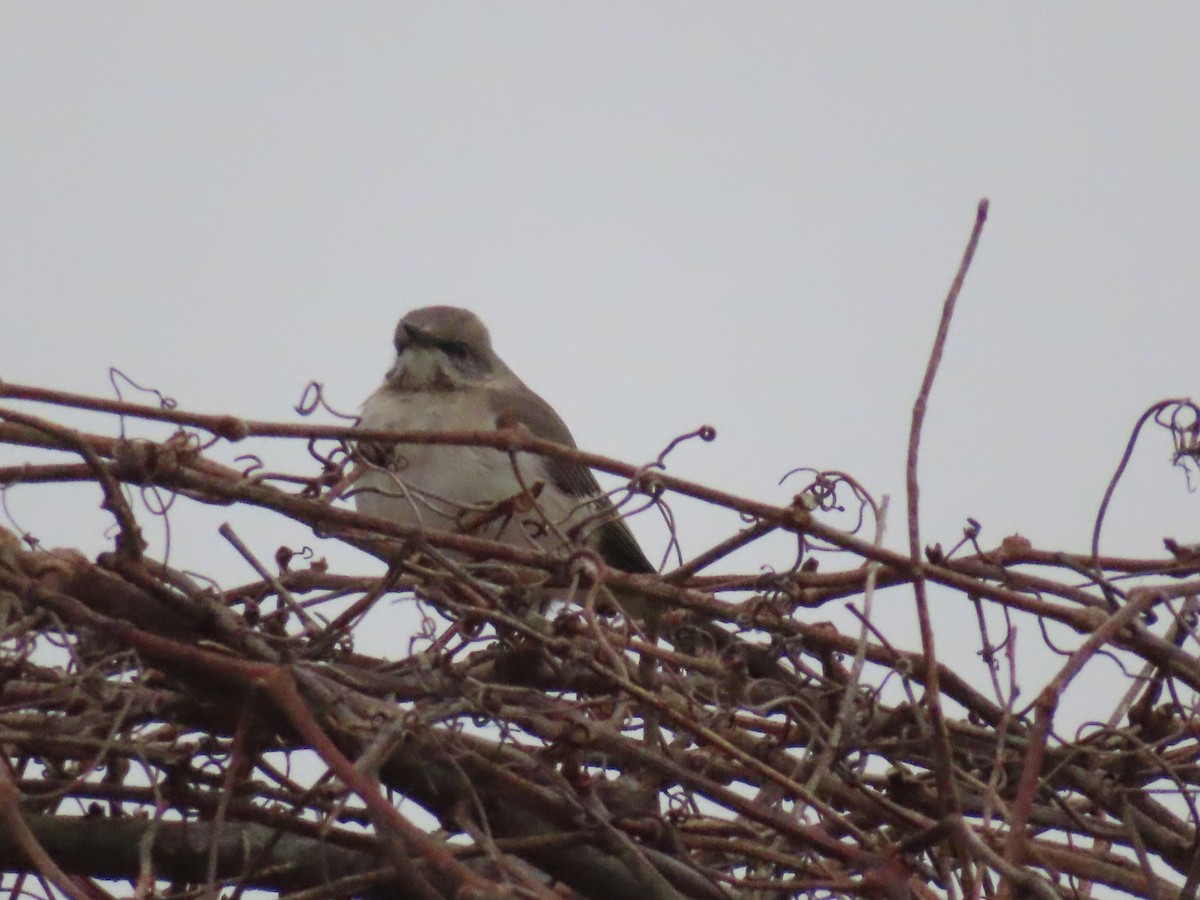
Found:
[[508, 373], [484, 323], [456, 306], [413, 310], [396, 325], [395, 344], [388, 382], [402, 390], [458, 390]]

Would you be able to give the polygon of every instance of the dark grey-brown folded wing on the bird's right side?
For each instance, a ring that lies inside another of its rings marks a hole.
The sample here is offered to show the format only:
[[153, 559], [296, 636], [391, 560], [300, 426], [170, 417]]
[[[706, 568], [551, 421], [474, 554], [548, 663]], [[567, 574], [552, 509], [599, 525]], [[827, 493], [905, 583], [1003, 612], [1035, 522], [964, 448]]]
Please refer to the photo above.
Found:
[[[522, 385], [523, 386], [523, 385]], [[568, 430], [565, 422], [545, 400], [532, 390], [496, 390], [492, 392], [492, 407], [497, 418], [504, 415], [515, 419], [527, 427], [529, 432], [544, 440], [553, 440], [556, 444], [575, 446], [575, 438]], [[653, 572], [654, 566], [646, 558], [634, 533], [629, 530], [617, 510], [600, 490], [592, 469], [566, 460], [545, 457], [546, 474], [551, 482], [571, 497], [581, 500], [596, 499], [612, 512], [612, 517], [596, 526], [593, 533], [595, 550], [606, 563], [624, 572], [646, 574]], [[599, 498], [599, 499], [598, 499]]]

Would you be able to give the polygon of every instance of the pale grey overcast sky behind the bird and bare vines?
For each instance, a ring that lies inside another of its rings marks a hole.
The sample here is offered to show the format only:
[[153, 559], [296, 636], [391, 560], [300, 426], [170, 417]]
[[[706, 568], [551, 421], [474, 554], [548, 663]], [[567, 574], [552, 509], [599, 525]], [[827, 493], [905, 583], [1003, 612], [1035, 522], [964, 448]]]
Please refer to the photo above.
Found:
[[[1084, 550], [1136, 416], [1198, 392], [1198, 5], [8, 0], [0, 46], [0, 378], [109, 394], [118, 366], [271, 419], [317, 379], [353, 410], [404, 311], [462, 305], [583, 446], [712, 424], [673, 472], [786, 502], [788, 469], [842, 469], [902, 546], [988, 197], [926, 542], [973, 516]], [[1169, 451], [1145, 437], [1109, 551], [1198, 539]], [[691, 552], [732, 527], [680, 518]]]

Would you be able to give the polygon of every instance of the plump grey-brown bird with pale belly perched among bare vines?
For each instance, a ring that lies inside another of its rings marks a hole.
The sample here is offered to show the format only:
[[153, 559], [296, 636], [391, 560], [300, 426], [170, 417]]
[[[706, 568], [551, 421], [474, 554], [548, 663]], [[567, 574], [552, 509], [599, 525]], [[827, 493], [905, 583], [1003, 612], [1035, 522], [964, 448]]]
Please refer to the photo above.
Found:
[[[425, 306], [401, 318], [395, 362], [362, 404], [359, 427], [380, 431], [492, 431], [520, 425], [576, 446], [550, 403], [492, 348], [480, 318]], [[587, 547], [613, 569], [654, 572], [592, 470], [575, 462], [486, 446], [367, 445], [355, 486], [360, 512], [408, 526], [469, 533], [524, 548]], [[520, 470], [520, 478], [517, 474]], [[524, 494], [534, 503], [515, 502]], [[622, 592], [626, 616], [652, 614], [649, 598]]]

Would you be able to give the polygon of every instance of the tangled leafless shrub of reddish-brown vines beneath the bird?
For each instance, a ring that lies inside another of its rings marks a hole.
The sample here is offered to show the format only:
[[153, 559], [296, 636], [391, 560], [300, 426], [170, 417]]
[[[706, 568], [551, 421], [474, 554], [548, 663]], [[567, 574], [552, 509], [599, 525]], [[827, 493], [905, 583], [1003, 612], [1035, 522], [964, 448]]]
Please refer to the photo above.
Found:
[[[972, 247], [982, 223], [983, 210]], [[1195, 896], [1200, 548], [1132, 559], [1013, 536], [985, 550], [973, 526], [949, 550], [922, 546], [920, 418], [960, 283], [913, 418], [908, 553], [868, 536], [882, 504], [834, 473], [779, 506], [677, 479], [665, 457], [635, 467], [503, 427], [406, 436], [571, 458], [625, 479], [629, 508], [683, 494], [744, 522], [660, 576], [625, 575], [350, 511], [364, 434], [348, 427], [0, 385], [0, 442], [30, 456], [0, 468], [5, 492], [94, 485], [115, 522], [95, 560], [0, 540], [8, 890]], [[1168, 428], [1194, 466], [1196, 413], [1169, 401], [1138, 427]], [[178, 431], [150, 439], [150, 421]], [[307, 442], [314, 462], [275, 472], [281, 440]], [[241, 468], [218, 461], [250, 444]], [[222, 589], [148, 553], [148, 521], [197, 503], [268, 510], [385, 572], [286, 547], [263, 563], [224, 528], [258, 577]], [[822, 521], [845, 503], [863, 510], [859, 533]], [[778, 533], [799, 547], [791, 568], [707, 574]], [[836, 565], [816, 564], [826, 548]], [[571, 602], [547, 605], [546, 584]], [[604, 614], [613, 586], [670, 610], [656, 634]], [[875, 592], [904, 586], [919, 652], [872, 617]], [[931, 586], [977, 612], [977, 634], [953, 641], [976, 643], [983, 686], [938, 664]], [[397, 598], [420, 614], [398, 616]], [[860, 628], [820, 622], [833, 601]], [[1021, 700], [1026, 623], [1061, 659]], [[388, 659], [355, 653], [371, 628], [394, 631]], [[1106, 688], [1111, 716], [1060, 732], [1063, 692], [1102, 658], [1124, 673]]]

